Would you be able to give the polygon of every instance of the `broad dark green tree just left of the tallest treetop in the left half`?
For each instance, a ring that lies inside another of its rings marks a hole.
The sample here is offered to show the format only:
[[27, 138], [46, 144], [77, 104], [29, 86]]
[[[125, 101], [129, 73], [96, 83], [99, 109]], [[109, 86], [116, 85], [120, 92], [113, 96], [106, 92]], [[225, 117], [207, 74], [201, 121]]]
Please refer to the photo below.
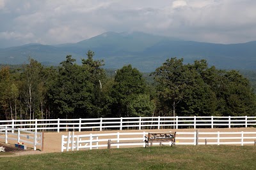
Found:
[[75, 64], [76, 60], [67, 55], [61, 62], [56, 81], [49, 89], [52, 110], [57, 117], [88, 117], [92, 110], [92, 89], [90, 73]]

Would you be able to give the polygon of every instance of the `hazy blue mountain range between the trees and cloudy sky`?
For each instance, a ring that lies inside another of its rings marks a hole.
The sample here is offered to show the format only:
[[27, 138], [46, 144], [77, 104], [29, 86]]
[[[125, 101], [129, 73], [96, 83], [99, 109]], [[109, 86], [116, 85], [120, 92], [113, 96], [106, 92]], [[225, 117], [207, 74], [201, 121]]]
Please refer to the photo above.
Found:
[[105, 32], [78, 43], [0, 48], [0, 64], [22, 64], [31, 56], [44, 64], [58, 65], [67, 55], [80, 63], [88, 50], [95, 52], [95, 59], [104, 59], [106, 68], [132, 64], [141, 71], [154, 71], [170, 57], [183, 57], [185, 62], [206, 59], [210, 65], [223, 69], [256, 70], [256, 41], [223, 45], [143, 32]]

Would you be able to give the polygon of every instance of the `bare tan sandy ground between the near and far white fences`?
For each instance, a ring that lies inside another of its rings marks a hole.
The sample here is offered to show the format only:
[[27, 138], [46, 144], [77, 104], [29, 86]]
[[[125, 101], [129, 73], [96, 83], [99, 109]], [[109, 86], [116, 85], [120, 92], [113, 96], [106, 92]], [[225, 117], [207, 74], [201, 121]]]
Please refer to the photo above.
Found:
[[[82, 131], [82, 132], [75, 132], [75, 135], [81, 135], [81, 134], [100, 134], [100, 133], [115, 133], [115, 132], [195, 132], [196, 129], [145, 129], [145, 130], [123, 130], [123, 131]], [[199, 132], [256, 132], [256, 128], [250, 127], [250, 128], [223, 128], [223, 129], [198, 129]], [[13, 148], [13, 144], [15, 141], [10, 141], [7, 145], [4, 144], [4, 139], [0, 139], [0, 146], [6, 147], [6, 152], [15, 152], [15, 155], [27, 155], [27, 154], [38, 154], [38, 153], [51, 153], [51, 152], [61, 152], [61, 136], [62, 135], [68, 135], [68, 132], [44, 132], [44, 150], [40, 152], [41, 149], [39, 146], [39, 150], [33, 151], [31, 148], [27, 151], [20, 152], [20, 149], [10, 149]], [[256, 136], [253, 135], [253, 136]], [[183, 137], [183, 136], [182, 136]], [[125, 138], [129, 138], [129, 136], [126, 136]], [[27, 145], [27, 148], [32, 147]], [[10, 150], [9, 150], [10, 149]], [[19, 149], [19, 150], [18, 150]], [[1, 153], [0, 153], [1, 155]]]

